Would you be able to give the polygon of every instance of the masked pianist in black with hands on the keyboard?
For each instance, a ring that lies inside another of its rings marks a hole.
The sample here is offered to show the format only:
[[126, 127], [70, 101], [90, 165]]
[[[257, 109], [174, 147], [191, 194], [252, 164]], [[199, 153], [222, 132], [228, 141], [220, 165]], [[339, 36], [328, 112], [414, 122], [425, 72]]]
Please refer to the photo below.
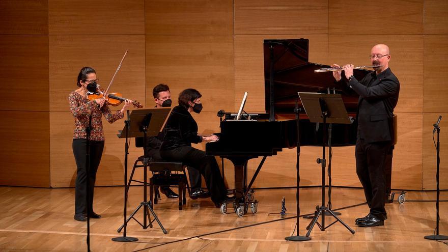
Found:
[[214, 156], [191, 147], [191, 144], [217, 141], [216, 135], [198, 134], [198, 124], [190, 113], [201, 113], [202, 95], [195, 89], [186, 89], [179, 94], [179, 105], [173, 111], [165, 125], [165, 137], [160, 147], [160, 155], [165, 160], [182, 161], [197, 169], [205, 178], [210, 198], [216, 207], [229, 200], [224, 180]]

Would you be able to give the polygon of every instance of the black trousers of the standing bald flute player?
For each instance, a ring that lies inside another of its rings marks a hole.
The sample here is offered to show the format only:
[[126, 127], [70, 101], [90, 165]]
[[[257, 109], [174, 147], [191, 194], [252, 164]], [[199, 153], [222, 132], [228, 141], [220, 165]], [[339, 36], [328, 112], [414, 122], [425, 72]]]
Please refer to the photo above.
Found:
[[361, 181], [366, 195], [370, 213], [380, 219], [384, 219], [386, 194], [386, 156], [391, 143], [377, 142], [367, 143], [364, 139], [356, 141], [356, 174]]

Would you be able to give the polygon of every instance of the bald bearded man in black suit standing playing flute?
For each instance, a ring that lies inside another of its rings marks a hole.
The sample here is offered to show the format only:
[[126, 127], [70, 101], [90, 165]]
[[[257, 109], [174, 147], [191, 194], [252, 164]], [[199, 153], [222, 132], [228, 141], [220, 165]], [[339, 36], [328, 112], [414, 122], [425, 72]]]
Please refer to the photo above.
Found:
[[[384, 208], [386, 181], [385, 160], [387, 151], [394, 139], [394, 108], [397, 105], [400, 82], [389, 68], [390, 51], [384, 44], [375, 45], [371, 50], [374, 68], [361, 80], [353, 76], [353, 65], [343, 66], [347, 86], [358, 95], [356, 173], [364, 188], [370, 213], [356, 219], [360, 227], [383, 226], [387, 219]], [[334, 64], [333, 67], [339, 67]], [[333, 72], [337, 81], [342, 78], [341, 71]]]

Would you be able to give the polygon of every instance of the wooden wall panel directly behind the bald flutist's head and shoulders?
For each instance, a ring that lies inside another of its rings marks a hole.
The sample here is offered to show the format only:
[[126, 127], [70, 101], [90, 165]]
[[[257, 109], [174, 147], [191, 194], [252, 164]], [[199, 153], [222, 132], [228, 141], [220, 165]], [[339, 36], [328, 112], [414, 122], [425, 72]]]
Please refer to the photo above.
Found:
[[330, 35], [328, 40], [329, 63], [339, 65], [370, 65], [372, 47], [387, 44], [391, 54], [390, 69], [400, 80], [400, 97], [395, 110], [423, 111], [423, 35]]

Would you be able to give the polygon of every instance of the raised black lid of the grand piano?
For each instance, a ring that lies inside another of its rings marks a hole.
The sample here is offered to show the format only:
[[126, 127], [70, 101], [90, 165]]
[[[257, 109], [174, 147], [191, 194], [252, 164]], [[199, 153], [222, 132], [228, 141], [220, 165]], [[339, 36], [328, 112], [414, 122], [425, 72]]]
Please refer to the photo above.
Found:
[[[271, 74], [270, 47], [273, 47], [273, 73], [274, 73], [274, 112], [278, 116], [290, 114], [293, 119], [294, 106], [298, 98], [297, 92], [327, 93], [327, 88], [335, 88], [336, 93], [342, 94], [344, 104], [349, 114], [355, 114], [358, 95], [344, 85], [334, 82], [332, 72], [315, 73], [319, 68], [330, 67], [308, 61], [309, 40], [307, 39], [282, 39], [264, 40], [264, 76], [265, 76], [265, 108], [269, 113], [270, 89], [269, 78]], [[356, 79], [362, 79], [370, 70], [355, 69]], [[345, 78], [343, 74], [343, 78]], [[332, 91], [331, 91], [332, 92]], [[300, 100], [299, 107], [302, 107]], [[304, 111], [302, 109], [302, 111]], [[301, 117], [302, 118], [302, 117]]]

